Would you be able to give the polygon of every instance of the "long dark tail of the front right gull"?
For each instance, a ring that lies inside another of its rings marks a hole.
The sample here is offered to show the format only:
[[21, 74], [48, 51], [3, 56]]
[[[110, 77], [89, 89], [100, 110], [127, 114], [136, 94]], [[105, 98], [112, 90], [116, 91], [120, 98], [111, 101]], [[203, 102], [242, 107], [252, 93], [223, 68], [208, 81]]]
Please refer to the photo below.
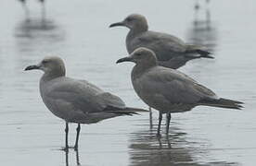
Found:
[[237, 109], [241, 110], [244, 108], [242, 104], [244, 102], [241, 101], [233, 101], [224, 98], [220, 98], [218, 100], [206, 100], [201, 102], [202, 105], [212, 106], [212, 107], [220, 107], [220, 108], [227, 108], [227, 109]]

